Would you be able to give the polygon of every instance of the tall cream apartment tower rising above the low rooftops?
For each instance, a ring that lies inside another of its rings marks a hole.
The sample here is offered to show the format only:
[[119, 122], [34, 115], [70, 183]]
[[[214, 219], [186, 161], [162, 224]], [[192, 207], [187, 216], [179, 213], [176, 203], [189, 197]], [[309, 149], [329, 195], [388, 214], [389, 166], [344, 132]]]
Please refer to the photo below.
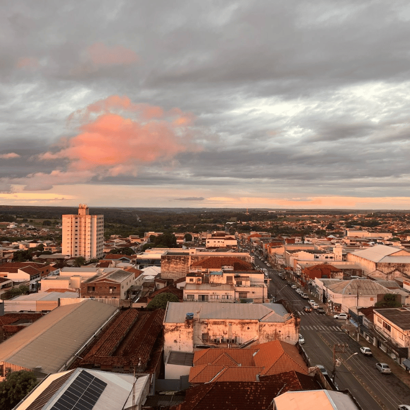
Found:
[[86, 260], [103, 256], [104, 215], [90, 215], [86, 204], [78, 207], [78, 215], [63, 215], [63, 254], [83, 256]]

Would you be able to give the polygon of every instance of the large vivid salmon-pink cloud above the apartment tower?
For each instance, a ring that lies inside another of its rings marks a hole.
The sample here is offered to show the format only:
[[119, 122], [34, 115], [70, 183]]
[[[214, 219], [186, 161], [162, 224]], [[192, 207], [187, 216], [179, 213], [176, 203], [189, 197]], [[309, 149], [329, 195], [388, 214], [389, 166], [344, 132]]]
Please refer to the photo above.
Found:
[[178, 153], [198, 151], [188, 127], [194, 116], [179, 109], [134, 104], [112, 95], [70, 116], [79, 119], [79, 133], [57, 152], [41, 159], [66, 158], [70, 168], [98, 175], [135, 175], [140, 164], [172, 161]]

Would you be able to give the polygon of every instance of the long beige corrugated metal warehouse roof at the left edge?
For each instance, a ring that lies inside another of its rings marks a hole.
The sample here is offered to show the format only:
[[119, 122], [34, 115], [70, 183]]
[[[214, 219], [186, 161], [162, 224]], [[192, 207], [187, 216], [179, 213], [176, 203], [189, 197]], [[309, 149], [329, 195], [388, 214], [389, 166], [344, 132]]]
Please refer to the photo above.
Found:
[[0, 361], [55, 373], [116, 310], [90, 299], [59, 306], [5, 340]]

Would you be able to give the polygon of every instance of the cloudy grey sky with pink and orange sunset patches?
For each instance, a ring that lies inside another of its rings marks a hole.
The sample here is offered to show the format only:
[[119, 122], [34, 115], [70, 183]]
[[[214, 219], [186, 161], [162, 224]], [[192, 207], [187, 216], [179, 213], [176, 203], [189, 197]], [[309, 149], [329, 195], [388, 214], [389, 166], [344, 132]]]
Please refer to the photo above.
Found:
[[410, 4], [6, 0], [0, 205], [410, 208]]

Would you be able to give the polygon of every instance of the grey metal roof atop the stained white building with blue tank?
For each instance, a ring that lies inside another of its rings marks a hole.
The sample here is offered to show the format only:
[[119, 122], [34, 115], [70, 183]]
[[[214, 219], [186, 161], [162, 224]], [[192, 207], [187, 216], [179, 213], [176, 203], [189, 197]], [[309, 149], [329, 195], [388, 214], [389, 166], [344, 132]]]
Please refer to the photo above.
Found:
[[279, 303], [209, 303], [169, 302], [164, 323], [184, 323], [193, 312], [200, 319], [245, 319], [262, 322], [285, 322], [290, 314]]

